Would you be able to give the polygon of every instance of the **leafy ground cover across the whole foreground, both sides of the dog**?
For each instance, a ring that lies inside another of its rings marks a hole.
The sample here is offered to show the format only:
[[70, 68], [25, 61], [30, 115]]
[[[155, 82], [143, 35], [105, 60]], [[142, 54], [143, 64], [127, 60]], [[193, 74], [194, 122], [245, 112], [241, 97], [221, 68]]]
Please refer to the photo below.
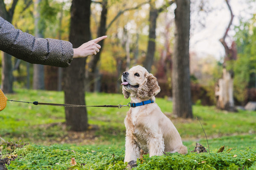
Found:
[[[26, 145], [14, 152], [18, 159], [12, 161], [9, 170], [123, 170], [124, 148], [98, 146], [59, 145], [52, 146]], [[76, 165], [70, 165], [75, 158]], [[256, 150], [234, 150], [223, 153], [178, 153], [163, 156], [144, 155], [137, 160], [134, 170], [237, 170], [255, 167]]]

